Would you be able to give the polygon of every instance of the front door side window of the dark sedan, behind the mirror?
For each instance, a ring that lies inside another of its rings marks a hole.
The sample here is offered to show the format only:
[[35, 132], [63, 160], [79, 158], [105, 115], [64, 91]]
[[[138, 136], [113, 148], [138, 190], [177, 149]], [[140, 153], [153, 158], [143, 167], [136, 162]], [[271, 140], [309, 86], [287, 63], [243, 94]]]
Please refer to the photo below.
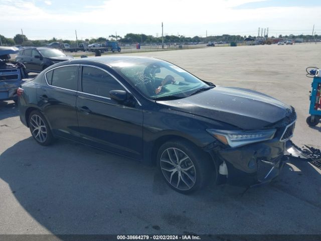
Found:
[[124, 90], [124, 88], [105, 71], [94, 67], [83, 66], [83, 92], [109, 98], [110, 90]]

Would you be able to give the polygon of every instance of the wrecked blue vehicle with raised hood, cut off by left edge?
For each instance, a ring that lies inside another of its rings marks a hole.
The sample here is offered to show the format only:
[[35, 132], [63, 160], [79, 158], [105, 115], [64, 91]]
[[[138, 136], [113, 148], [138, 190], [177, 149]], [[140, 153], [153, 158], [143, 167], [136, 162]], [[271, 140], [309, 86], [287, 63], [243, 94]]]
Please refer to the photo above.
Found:
[[11, 61], [10, 54], [16, 54], [16, 47], [0, 47], [0, 101], [18, 100], [17, 89], [28, 78], [25, 66]]

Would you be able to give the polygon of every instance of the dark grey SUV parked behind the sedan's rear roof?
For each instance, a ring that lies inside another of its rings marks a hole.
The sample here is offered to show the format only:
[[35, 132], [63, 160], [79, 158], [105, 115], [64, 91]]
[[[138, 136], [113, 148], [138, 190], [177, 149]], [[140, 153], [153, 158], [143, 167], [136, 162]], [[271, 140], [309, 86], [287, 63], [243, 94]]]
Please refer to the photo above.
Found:
[[26, 47], [19, 50], [16, 61], [23, 63], [28, 72], [40, 73], [50, 65], [73, 58], [58, 49]]

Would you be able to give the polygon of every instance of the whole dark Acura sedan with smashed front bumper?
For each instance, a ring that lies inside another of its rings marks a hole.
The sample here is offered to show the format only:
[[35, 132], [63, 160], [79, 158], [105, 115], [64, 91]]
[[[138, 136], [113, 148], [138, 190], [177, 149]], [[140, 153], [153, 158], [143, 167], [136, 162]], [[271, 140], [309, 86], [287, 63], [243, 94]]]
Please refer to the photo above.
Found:
[[65, 138], [157, 165], [182, 193], [211, 181], [270, 182], [296, 120], [268, 95], [218, 87], [146, 57], [58, 63], [19, 93], [21, 121], [40, 145]]

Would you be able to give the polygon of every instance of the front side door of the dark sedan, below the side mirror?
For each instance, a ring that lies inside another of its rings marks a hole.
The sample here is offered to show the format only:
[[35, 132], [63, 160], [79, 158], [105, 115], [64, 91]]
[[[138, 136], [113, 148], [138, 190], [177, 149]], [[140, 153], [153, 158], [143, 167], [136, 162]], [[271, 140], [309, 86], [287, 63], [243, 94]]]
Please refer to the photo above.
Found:
[[125, 90], [108, 71], [82, 66], [77, 115], [82, 142], [132, 158], [142, 155], [142, 108], [112, 100], [110, 90]]

